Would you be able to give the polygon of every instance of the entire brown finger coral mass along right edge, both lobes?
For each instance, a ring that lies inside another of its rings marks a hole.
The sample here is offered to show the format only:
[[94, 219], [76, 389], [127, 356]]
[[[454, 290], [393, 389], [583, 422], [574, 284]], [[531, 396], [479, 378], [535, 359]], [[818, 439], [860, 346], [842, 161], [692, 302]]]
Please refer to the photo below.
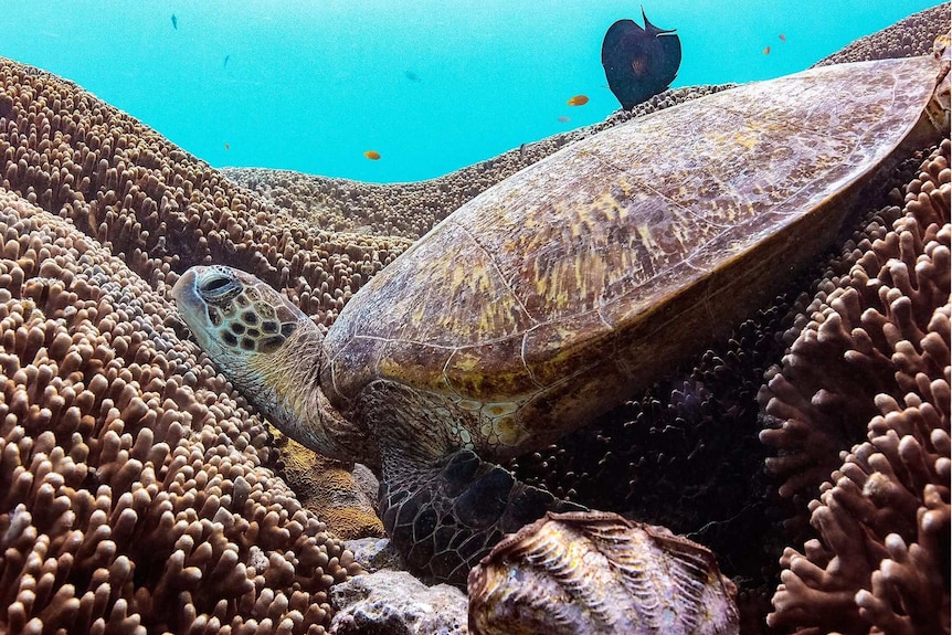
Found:
[[922, 163], [889, 231], [845, 251], [836, 264], [855, 264], [818, 285], [761, 394], [781, 494], [829, 479], [810, 504], [818, 538], [781, 559], [772, 626], [949, 632], [949, 155], [945, 140]]

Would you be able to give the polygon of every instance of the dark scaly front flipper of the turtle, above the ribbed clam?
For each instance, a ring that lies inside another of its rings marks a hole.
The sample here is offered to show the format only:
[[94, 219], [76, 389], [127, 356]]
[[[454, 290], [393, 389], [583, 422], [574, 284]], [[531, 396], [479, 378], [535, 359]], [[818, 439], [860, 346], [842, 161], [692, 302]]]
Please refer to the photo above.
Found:
[[426, 581], [466, 588], [469, 570], [506, 533], [547, 511], [585, 511], [459, 449], [430, 465], [388, 457], [380, 512], [408, 568]]

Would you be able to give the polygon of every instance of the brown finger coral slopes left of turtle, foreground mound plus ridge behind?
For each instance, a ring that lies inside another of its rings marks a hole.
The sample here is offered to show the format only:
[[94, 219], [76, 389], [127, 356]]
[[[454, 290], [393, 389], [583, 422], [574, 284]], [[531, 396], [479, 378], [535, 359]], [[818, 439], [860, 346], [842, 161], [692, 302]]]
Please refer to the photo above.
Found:
[[263, 424], [169, 328], [165, 289], [241, 261], [329, 321], [401, 243], [278, 229], [281, 210], [6, 60], [0, 157], [0, 626], [321, 632], [360, 567], [264, 467]]

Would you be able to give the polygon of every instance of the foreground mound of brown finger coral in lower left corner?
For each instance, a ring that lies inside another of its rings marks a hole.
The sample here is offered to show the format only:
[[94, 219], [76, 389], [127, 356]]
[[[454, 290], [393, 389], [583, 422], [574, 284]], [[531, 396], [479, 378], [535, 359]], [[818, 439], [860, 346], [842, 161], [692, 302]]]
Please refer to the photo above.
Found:
[[188, 370], [165, 299], [67, 221], [0, 210], [0, 624], [329, 625], [359, 567], [262, 467], [261, 423]]

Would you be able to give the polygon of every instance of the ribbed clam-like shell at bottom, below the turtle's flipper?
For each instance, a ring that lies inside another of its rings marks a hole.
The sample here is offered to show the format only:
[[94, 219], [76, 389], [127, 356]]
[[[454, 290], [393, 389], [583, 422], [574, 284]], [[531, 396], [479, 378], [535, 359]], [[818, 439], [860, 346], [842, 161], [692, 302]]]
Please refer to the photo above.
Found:
[[474, 635], [729, 635], [733, 583], [706, 548], [615, 514], [548, 512], [469, 573]]

